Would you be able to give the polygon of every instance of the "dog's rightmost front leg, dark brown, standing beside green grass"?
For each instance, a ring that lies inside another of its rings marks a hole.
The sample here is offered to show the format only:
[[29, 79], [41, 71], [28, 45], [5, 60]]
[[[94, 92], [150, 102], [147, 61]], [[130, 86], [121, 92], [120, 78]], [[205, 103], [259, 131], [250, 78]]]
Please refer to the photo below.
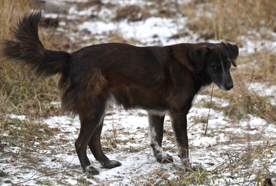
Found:
[[187, 114], [171, 113], [170, 114], [175, 139], [177, 142], [178, 155], [185, 168], [190, 167], [189, 162], [189, 144], [187, 135]]

